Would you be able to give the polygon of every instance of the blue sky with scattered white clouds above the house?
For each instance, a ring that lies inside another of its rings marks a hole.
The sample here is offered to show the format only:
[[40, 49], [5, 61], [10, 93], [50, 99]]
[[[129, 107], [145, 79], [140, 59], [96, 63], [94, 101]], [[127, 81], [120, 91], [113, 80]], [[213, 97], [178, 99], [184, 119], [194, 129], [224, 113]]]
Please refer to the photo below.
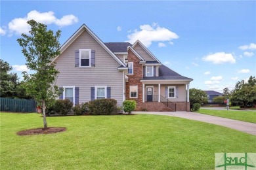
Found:
[[191, 88], [234, 88], [256, 75], [255, 1], [0, 1], [1, 59], [22, 76], [16, 39], [26, 20], [60, 29], [63, 44], [82, 24], [103, 42], [139, 39], [160, 61], [193, 78]]

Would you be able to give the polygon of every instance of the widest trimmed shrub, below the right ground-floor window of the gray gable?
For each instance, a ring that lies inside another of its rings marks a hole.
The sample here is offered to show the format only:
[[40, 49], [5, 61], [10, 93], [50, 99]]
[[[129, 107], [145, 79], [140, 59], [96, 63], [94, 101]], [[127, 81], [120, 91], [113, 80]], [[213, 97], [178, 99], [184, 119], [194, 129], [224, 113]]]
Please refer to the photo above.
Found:
[[103, 115], [116, 113], [116, 103], [117, 101], [115, 99], [96, 99], [90, 101], [88, 105], [89, 114]]

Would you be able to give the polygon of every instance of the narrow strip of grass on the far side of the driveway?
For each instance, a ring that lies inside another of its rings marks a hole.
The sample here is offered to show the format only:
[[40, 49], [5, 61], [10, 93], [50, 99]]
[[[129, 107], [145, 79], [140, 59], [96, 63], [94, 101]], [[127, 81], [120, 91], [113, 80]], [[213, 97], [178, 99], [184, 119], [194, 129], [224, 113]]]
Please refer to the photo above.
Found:
[[234, 120], [256, 123], [256, 111], [200, 109], [197, 112], [202, 114], [219, 116], [223, 118], [230, 118]]

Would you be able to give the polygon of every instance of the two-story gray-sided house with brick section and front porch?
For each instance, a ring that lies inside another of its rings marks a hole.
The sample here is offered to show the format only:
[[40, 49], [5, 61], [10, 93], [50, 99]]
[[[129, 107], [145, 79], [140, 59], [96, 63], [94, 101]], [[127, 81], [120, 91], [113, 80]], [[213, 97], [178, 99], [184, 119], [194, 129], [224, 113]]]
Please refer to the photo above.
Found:
[[137, 110], [189, 111], [189, 83], [163, 65], [140, 41], [102, 42], [86, 25], [66, 41], [54, 58], [60, 72], [60, 99], [75, 104], [112, 98], [121, 106], [137, 101]]

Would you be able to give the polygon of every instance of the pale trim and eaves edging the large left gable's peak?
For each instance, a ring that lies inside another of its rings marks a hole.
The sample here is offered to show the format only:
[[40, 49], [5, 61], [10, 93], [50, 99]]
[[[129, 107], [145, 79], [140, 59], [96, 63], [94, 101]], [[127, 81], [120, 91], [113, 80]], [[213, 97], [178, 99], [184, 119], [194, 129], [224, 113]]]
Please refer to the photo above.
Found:
[[[91, 31], [91, 29], [89, 29], [89, 27], [87, 27], [87, 25], [85, 25], [85, 24], [81, 25], [81, 27], [79, 27], [79, 29], [77, 29], [77, 31], [75, 31], [75, 33], [66, 42], [64, 42], [64, 44], [62, 44], [62, 46], [60, 48], [60, 54], [62, 54], [62, 52], [64, 52], [64, 50], [66, 50], [66, 48], [68, 48], [68, 46], [70, 46], [70, 44], [72, 44], [72, 42], [74, 42], [75, 39], [77, 39], [77, 37], [79, 37], [79, 35], [81, 35], [81, 33], [83, 33], [83, 31], [87, 31], [89, 33], [89, 35], [91, 35], [95, 39], [95, 41], [97, 41], [98, 44], [100, 44], [110, 54], [110, 56], [112, 56], [117, 61], [117, 63], [119, 63], [120, 65], [123, 65], [123, 67], [126, 67], [125, 63], [123, 63], [123, 61], [121, 61], [121, 59], [117, 58], [117, 56], [110, 50], [110, 48], [108, 48], [108, 46], [106, 46], [95, 35], [95, 33], [93, 33], [93, 31]], [[58, 56], [56, 56], [56, 58], [53, 59], [53, 62], [57, 58], [58, 58]]]

